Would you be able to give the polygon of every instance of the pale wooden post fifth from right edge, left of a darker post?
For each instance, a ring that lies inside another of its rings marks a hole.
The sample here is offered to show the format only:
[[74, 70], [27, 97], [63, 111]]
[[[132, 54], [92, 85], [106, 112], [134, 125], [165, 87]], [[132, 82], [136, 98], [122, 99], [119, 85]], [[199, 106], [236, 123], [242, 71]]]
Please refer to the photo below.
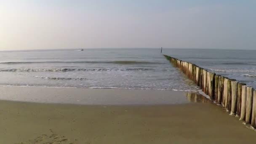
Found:
[[232, 81], [231, 82], [231, 90], [232, 90], [232, 95], [231, 95], [231, 112], [230, 115], [235, 115], [237, 112], [237, 81]]

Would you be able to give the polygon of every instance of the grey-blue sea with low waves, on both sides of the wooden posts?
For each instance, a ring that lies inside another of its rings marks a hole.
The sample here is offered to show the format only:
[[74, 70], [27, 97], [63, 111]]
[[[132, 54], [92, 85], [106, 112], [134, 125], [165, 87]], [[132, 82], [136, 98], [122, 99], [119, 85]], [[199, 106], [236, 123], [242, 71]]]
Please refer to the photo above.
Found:
[[97, 48], [0, 51], [0, 86], [200, 91], [166, 54], [256, 87], [256, 51]]

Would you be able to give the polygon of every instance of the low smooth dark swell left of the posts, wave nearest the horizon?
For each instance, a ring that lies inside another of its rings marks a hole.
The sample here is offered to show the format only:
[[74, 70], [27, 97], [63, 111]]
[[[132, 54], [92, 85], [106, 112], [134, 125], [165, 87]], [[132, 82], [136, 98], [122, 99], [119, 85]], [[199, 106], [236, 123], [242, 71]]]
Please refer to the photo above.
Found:
[[0, 62], [0, 64], [40, 64], [40, 63], [87, 63], [87, 64], [164, 64], [149, 61], [22, 61], [22, 62]]

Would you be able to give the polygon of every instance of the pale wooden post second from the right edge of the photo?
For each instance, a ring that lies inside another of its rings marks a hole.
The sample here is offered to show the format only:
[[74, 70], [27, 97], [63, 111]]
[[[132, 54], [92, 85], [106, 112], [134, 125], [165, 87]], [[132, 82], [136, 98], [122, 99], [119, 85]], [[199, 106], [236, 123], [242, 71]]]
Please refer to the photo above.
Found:
[[252, 105], [253, 105], [253, 88], [247, 87], [246, 94], [246, 113], [245, 123], [251, 123]]

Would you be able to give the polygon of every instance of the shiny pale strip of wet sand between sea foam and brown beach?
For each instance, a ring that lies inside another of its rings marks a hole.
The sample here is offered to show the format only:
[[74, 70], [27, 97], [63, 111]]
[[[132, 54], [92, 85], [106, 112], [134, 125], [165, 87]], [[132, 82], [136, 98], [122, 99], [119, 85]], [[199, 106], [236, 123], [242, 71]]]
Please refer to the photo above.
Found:
[[[85, 105], [157, 105], [187, 104], [184, 91], [101, 89], [101, 88], [45, 88], [0, 87], [0, 100], [53, 104]], [[200, 94], [198, 94], [200, 95]]]

